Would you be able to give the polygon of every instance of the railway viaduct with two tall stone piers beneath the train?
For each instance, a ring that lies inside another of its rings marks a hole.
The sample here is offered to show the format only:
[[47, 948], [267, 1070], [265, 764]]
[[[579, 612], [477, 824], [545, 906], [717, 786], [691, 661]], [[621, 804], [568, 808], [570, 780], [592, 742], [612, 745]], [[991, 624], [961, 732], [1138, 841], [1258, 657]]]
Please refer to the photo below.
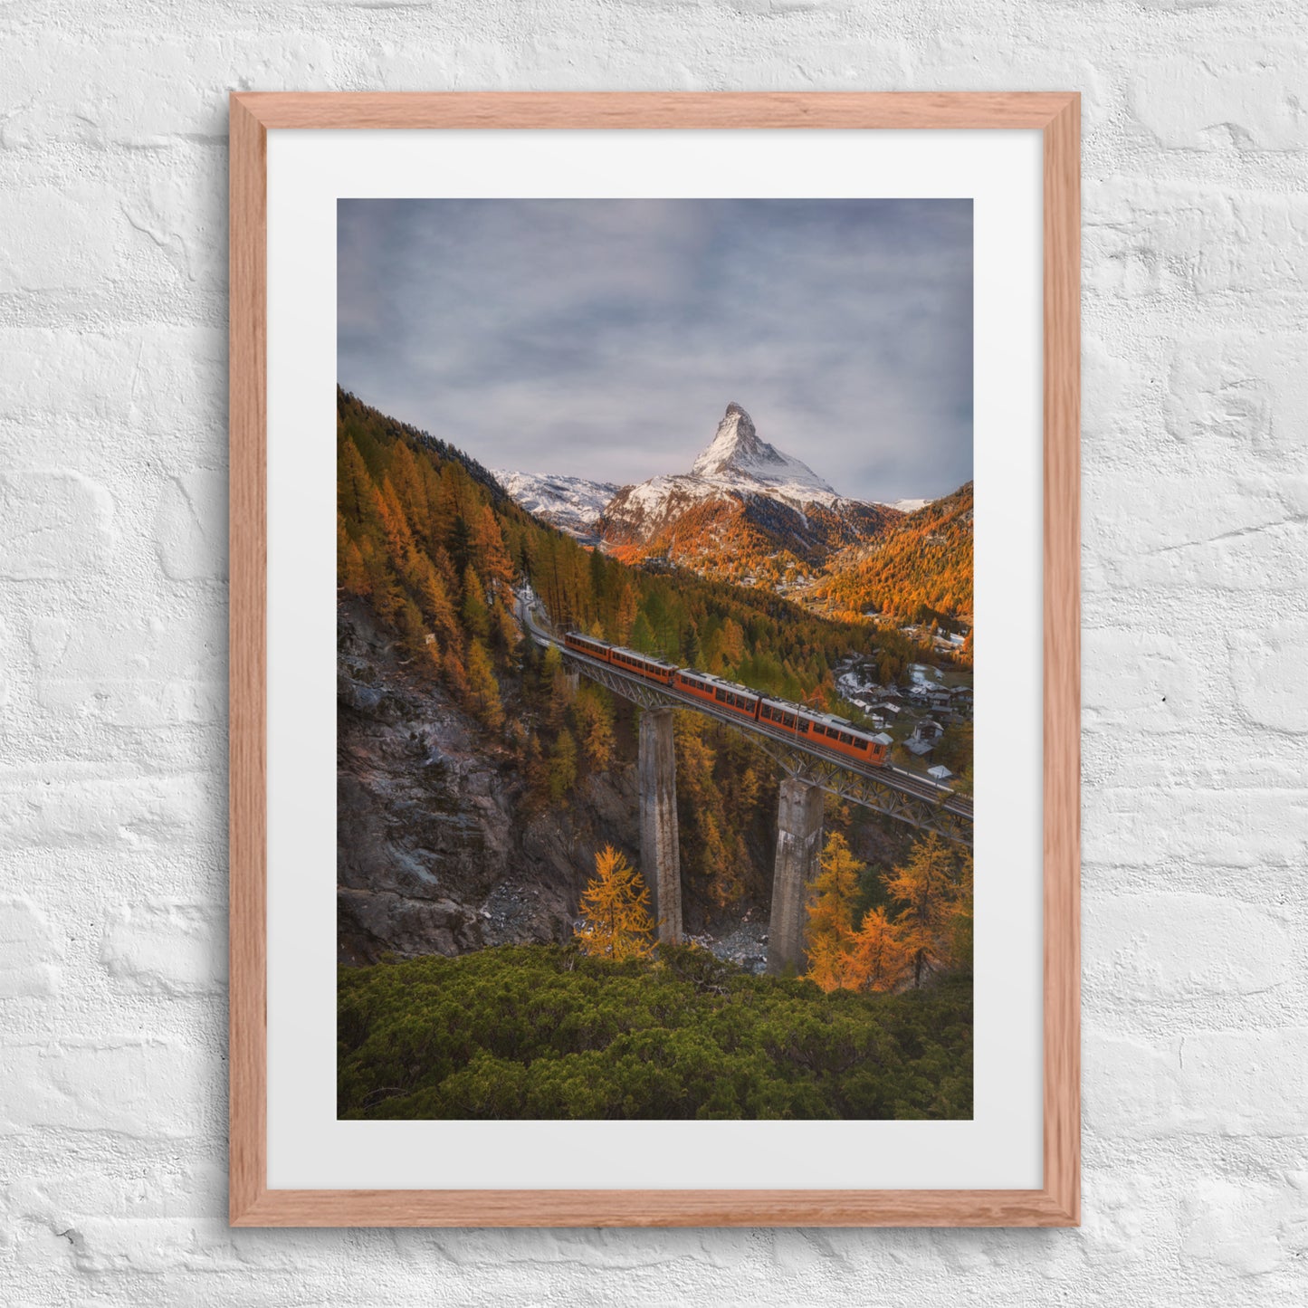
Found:
[[518, 616], [538, 645], [552, 645], [560, 651], [573, 684], [578, 676], [587, 676], [642, 710], [637, 751], [641, 872], [651, 891], [659, 940], [679, 943], [683, 938], [674, 708], [702, 713], [746, 732], [785, 773], [777, 806], [777, 855], [768, 923], [768, 973], [772, 976], [803, 971], [806, 900], [819, 872], [824, 794], [838, 795], [947, 840], [971, 840], [972, 800], [965, 795], [895, 768], [865, 769], [831, 757], [766, 723], [718, 710], [671, 687], [657, 685], [578, 654], [544, 625], [539, 603], [531, 596], [519, 596]]

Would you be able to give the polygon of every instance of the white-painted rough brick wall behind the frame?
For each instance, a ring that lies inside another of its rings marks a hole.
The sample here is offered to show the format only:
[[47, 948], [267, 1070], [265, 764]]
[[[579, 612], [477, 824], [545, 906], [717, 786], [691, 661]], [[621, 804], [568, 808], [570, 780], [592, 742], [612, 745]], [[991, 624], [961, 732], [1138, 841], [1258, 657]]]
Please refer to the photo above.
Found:
[[[1308, 1298], [1294, 0], [0, 5], [0, 1301]], [[229, 1231], [228, 88], [1078, 88], [1086, 1224]]]

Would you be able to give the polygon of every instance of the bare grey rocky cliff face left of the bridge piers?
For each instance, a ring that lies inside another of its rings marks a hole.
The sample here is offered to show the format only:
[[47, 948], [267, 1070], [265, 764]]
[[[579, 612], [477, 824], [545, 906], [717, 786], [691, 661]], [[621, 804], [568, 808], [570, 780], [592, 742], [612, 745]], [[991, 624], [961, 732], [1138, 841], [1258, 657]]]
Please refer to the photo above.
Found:
[[562, 940], [596, 848], [636, 855], [636, 769], [521, 816], [513, 756], [419, 678], [362, 602], [337, 608], [337, 952]]

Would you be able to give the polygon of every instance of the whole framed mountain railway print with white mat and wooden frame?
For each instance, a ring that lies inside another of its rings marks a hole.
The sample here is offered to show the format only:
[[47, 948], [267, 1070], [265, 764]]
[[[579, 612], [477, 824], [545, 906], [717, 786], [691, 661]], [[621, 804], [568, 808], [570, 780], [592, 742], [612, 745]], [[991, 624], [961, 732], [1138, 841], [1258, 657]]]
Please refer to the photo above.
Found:
[[1076, 1224], [1078, 95], [230, 139], [233, 1224]]

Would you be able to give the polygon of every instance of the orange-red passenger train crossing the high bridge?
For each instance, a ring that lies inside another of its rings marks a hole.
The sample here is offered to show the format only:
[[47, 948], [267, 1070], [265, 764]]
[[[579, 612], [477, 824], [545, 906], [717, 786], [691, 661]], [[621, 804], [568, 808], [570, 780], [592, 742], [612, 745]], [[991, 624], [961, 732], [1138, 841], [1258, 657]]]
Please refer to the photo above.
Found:
[[612, 663], [627, 672], [634, 672], [649, 681], [671, 687], [683, 695], [712, 704], [718, 712], [752, 718], [777, 734], [807, 740], [821, 749], [845, 755], [857, 763], [883, 768], [889, 761], [889, 746], [884, 739], [859, 731], [853, 722], [829, 713], [815, 713], [786, 700], [773, 700], [746, 685], [725, 681], [712, 672], [675, 667], [661, 658], [637, 654], [621, 645], [608, 645], [581, 632], [568, 632], [564, 645], [578, 654]]

